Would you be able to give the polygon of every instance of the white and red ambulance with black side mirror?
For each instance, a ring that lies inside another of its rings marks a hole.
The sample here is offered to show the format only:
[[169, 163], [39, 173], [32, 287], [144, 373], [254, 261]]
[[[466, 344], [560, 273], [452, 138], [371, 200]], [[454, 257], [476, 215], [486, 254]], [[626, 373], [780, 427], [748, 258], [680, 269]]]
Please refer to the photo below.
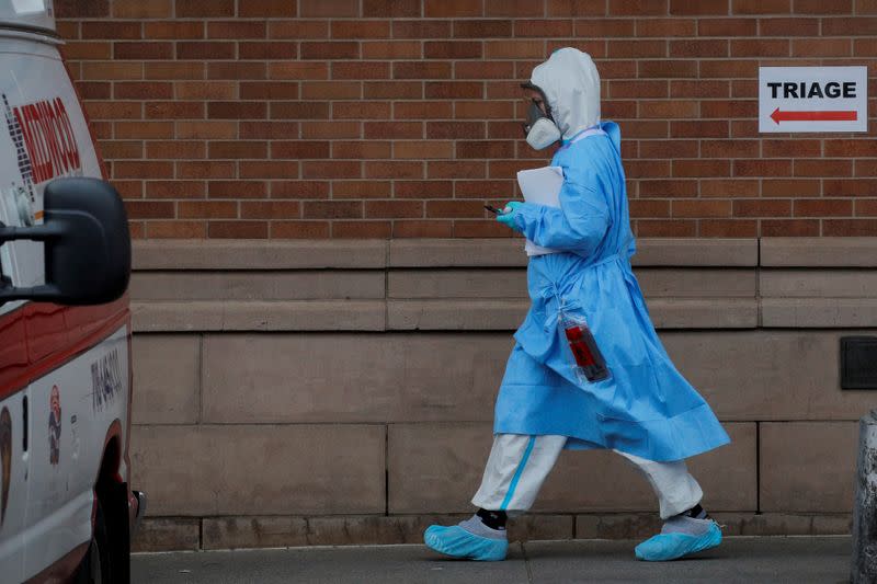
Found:
[[[45, 5], [47, 4], [47, 5]], [[130, 237], [50, 0], [0, 0], [0, 582], [127, 582]]]

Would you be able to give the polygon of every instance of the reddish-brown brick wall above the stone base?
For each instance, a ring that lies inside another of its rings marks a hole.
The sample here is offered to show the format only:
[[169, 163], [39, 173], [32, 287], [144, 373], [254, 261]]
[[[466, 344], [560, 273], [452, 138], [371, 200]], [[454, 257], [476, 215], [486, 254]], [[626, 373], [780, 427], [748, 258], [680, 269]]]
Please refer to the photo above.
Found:
[[560, 46], [596, 59], [639, 236], [877, 234], [873, 138], [755, 121], [759, 65], [873, 68], [875, 0], [56, 4], [138, 238], [508, 237], [482, 204], [545, 161], [517, 83]]

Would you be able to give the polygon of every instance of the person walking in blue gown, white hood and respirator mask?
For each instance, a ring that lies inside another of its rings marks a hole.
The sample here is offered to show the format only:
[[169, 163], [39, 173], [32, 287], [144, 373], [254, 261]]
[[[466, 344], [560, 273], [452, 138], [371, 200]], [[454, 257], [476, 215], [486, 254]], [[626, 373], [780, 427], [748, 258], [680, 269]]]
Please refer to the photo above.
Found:
[[[531, 99], [529, 146], [562, 142], [551, 162], [563, 171], [560, 207], [512, 202], [498, 220], [556, 253], [529, 260], [533, 304], [497, 398], [493, 447], [472, 499], [478, 512], [431, 526], [425, 543], [456, 558], [504, 559], [508, 516], [533, 505], [560, 451], [610, 448], [642, 472], [664, 520], [637, 546], [638, 559], [714, 548], [721, 530], [701, 507], [684, 459], [730, 440], [670, 360], [630, 270], [620, 133], [600, 121], [596, 67], [588, 54], [562, 48], [522, 87]], [[574, 346], [581, 342], [584, 354]], [[582, 359], [596, 364], [588, 376]]]

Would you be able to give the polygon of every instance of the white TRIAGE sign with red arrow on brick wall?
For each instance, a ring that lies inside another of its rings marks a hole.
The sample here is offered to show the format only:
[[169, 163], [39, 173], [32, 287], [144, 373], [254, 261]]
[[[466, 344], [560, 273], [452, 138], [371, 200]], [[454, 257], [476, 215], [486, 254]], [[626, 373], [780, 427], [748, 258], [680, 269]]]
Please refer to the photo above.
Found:
[[867, 67], [759, 68], [759, 131], [867, 130]]

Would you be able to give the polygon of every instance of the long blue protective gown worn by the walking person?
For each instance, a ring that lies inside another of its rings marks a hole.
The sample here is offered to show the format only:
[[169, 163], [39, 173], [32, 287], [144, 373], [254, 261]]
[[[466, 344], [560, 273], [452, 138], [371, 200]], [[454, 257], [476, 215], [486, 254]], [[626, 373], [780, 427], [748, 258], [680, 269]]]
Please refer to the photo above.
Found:
[[[568, 436], [568, 448], [613, 448], [649, 460], [694, 456], [730, 440], [709, 405], [670, 360], [630, 270], [635, 252], [620, 133], [560, 148], [560, 208], [522, 204], [514, 227], [563, 253], [533, 256], [533, 304], [515, 333], [496, 408], [496, 433]], [[561, 306], [583, 316], [612, 375], [582, 383], [558, 325]]]

